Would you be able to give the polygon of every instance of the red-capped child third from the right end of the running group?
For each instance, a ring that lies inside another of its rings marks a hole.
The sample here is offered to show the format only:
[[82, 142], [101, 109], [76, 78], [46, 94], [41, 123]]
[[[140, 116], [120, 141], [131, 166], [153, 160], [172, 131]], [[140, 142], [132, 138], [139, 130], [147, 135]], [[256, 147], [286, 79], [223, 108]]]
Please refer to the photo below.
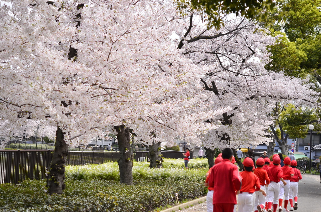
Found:
[[[283, 172], [281, 167], [279, 167], [281, 159], [279, 157], [274, 157], [273, 159], [273, 167], [270, 167], [268, 175], [270, 178], [270, 184], [268, 187], [268, 197], [267, 197], [267, 205], [268, 212], [272, 212], [272, 202], [273, 202], [273, 212], [276, 212], [279, 203], [279, 193], [280, 193], [280, 180], [286, 185], [286, 182], [283, 180]], [[279, 210], [281, 212], [281, 210]]]

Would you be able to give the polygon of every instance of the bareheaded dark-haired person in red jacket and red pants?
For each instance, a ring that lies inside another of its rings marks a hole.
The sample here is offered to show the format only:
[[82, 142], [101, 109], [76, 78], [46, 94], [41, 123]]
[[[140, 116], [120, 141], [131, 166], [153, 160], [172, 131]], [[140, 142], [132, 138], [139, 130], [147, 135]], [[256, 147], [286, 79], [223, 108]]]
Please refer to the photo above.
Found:
[[222, 151], [222, 162], [215, 165], [210, 173], [209, 187], [213, 187], [213, 211], [233, 212], [237, 204], [236, 193], [241, 188], [241, 178], [238, 167], [232, 164], [233, 151], [225, 148]]

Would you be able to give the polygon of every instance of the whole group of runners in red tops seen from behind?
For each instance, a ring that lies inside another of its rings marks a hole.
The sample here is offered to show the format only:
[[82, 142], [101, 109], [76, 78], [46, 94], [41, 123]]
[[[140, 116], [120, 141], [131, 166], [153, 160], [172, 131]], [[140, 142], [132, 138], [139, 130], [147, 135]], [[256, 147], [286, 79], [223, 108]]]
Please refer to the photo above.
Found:
[[235, 212], [236, 204], [239, 212], [289, 212], [289, 202], [290, 211], [296, 210], [302, 176], [295, 160], [284, 158], [283, 167], [280, 162], [280, 156], [275, 154], [272, 162], [258, 158], [254, 168], [253, 159], [245, 158], [244, 171], [239, 172], [233, 151], [225, 148], [206, 174], [207, 212]]

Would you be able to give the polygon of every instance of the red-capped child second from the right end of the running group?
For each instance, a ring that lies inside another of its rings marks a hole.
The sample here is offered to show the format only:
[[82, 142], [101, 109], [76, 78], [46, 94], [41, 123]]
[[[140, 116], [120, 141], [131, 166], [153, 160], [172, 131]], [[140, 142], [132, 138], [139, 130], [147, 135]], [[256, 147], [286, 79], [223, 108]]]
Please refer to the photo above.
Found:
[[288, 203], [290, 199], [290, 180], [294, 175], [293, 168], [290, 167], [291, 159], [286, 157], [283, 159], [284, 166], [281, 168], [283, 172], [283, 180], [287, 183], [286, 185], [280, 184], [280, 194], [279, 194], [279, 211], [282, 210], [282, 201], [284, 197], [284, 209], [283, 212], [289, 212]]

